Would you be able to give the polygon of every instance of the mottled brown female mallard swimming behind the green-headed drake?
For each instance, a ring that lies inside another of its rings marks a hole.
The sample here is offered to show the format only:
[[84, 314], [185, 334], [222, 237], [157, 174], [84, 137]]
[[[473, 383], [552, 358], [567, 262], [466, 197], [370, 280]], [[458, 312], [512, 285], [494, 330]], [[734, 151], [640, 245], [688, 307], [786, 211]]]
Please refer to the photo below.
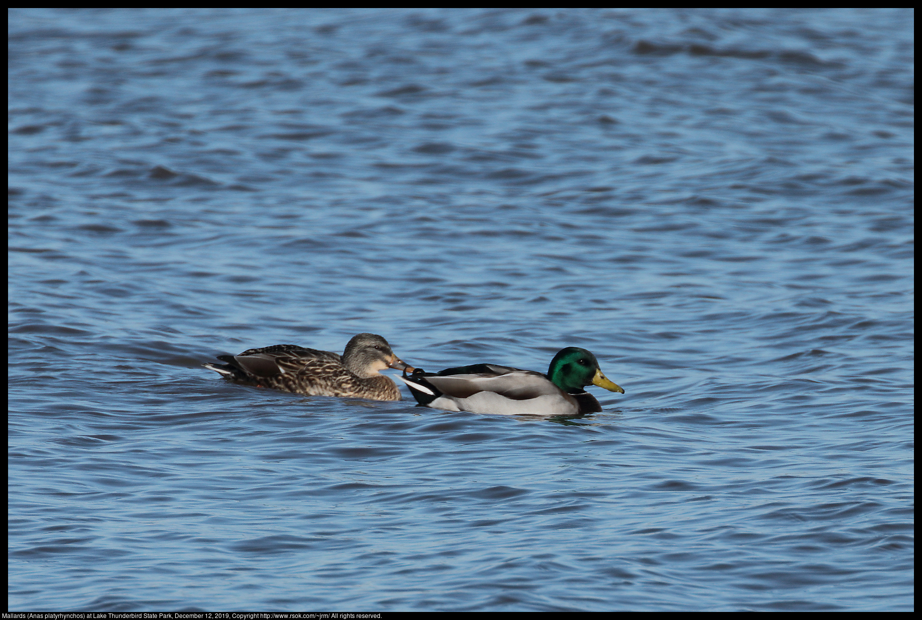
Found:
[[358, 399], [399, 400], [400, 390], [379, 371], [413, 371], [400, 361], [377, 334], [353, 336], [342, 356], [329, 351], [276, 344], [247, 349], [240, 355], [219, 355], [228, 364], [202, 364], [234, 383], [273, 388], [305, 396], [350, 396]]

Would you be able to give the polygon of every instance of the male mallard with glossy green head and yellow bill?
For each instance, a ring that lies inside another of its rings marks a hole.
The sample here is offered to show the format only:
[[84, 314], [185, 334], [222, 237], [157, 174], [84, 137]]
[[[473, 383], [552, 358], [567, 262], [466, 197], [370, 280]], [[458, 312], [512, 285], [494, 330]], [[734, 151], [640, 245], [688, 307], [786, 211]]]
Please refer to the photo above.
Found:
[[602, 374], [596, 356], [578, 347], [561, 349], [547, 375], [496, 364], [446, 368], [440, 373], [417, 369], [399, 377], [421, 405], [474, 413], [576, 415], [602, 411], [585, 391], [590, 383], [612, 392], [624, 390]]

